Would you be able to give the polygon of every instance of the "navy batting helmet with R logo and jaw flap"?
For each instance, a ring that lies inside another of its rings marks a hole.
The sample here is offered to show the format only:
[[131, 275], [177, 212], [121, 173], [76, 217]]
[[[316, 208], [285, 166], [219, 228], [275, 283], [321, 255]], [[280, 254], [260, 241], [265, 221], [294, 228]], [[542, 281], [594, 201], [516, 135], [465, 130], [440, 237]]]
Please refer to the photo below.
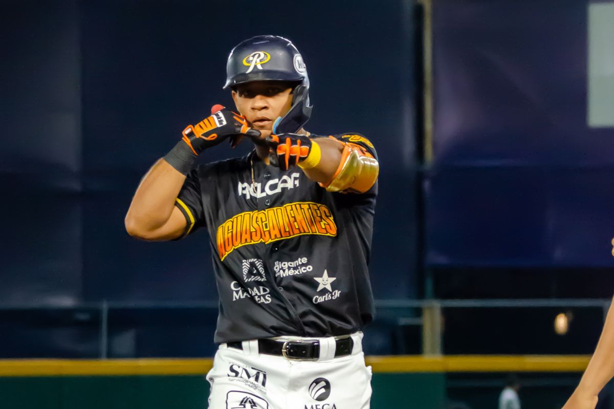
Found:
[[303, 57], [290, 40], [279, 36], [255, 36], [232, 49], [226, 64], [224, 89], [252, 81], [296, 82], [292, 107], [274, 123], [273, 132], [297, 132], [311, 117], [309, 77]]

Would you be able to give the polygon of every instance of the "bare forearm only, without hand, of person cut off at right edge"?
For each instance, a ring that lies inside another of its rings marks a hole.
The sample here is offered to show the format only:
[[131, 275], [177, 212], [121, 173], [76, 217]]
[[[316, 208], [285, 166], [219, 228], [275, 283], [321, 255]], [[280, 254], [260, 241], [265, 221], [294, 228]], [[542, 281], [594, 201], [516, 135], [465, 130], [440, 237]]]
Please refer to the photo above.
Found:
[[586, 396], [596, 396], [614, 377], [614, 302], [610, 306], [597, 348], [591, 357], [577, 391]]

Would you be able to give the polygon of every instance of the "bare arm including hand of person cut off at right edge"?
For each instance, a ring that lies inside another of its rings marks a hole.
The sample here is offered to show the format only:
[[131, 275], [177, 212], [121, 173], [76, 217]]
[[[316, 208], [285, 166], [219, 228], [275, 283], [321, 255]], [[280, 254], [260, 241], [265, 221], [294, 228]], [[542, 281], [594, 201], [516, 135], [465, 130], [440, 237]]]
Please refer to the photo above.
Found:
[[[613, 299], [614, 301], [614, 299]], [[594, 409], [599, 392], [614, 377], [614, 302], [605, 318], [597, 348], [584, 375], [563, 409]]]

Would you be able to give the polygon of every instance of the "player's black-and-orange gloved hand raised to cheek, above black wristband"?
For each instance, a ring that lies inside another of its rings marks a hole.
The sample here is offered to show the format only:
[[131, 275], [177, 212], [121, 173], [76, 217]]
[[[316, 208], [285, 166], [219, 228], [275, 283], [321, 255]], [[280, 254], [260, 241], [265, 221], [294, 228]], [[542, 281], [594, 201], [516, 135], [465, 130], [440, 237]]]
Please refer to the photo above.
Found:
[[183, 141], [196, 156], [229, 137], [233, 147], [244, 135], [260, 137], [260, 131], [249, 128], [245, 117], [219, 104], [211, 108], [211, 117], [204, 118], [196, 125], [188, 125], [182, 134]]

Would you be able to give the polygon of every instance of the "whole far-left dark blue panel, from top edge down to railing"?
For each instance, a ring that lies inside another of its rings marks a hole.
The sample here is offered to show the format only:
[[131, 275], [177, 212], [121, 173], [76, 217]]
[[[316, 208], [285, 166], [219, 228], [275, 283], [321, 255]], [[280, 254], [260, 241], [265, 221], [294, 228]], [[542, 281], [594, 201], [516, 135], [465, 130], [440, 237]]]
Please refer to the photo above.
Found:
[[77, 4], [26, 3], [3, 2], [0, 17], [0, 305], [72, 305], [84, 239]]

